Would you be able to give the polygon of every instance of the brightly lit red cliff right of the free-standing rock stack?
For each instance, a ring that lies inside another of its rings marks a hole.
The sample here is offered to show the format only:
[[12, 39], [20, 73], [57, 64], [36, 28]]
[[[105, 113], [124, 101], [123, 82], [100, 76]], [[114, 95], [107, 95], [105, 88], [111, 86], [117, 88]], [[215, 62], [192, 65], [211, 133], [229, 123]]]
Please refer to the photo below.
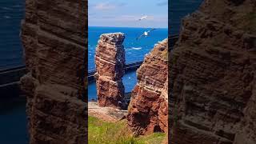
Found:
[[138, 83], [131, 94], [127, 120], [136, 134], [167, 132], [168, 39], [146, 54], [137, 70]]

